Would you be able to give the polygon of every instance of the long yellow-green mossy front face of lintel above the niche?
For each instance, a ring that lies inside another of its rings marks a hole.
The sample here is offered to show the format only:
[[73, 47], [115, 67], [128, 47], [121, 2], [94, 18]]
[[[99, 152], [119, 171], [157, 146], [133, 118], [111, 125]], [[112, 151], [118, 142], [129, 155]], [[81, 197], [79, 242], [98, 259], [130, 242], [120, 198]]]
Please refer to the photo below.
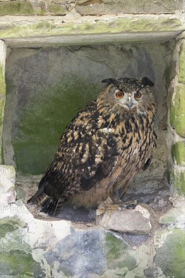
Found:
[[121, 18], [111, 21], [99, 20], [97, 23], [83, 22], [62, 23], [55, 25], [49, 20], [22, 24], [2, 26], [3, 38], [33, 36], [33, 35], [61, 35], [61, 34], [90, 34], [102, 32], [143, 32], [143, 31], [170, 31], [182, 30], [183, 26], [177, 19], [154, 19], [154, 18]]

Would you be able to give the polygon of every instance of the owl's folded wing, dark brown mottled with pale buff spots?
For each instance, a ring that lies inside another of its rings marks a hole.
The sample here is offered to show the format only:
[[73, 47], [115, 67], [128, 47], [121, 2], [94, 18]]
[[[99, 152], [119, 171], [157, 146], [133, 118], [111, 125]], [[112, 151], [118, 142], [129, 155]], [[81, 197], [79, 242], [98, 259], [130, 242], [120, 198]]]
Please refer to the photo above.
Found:
[[61, 136], [59, 150], [30, 201], [43, 192], [65, 198], [89, 190], [112, 171], [118, 157], [117, 139], [111, 129], [97, 130], [96, 111], [89, 110], [79, 112]]

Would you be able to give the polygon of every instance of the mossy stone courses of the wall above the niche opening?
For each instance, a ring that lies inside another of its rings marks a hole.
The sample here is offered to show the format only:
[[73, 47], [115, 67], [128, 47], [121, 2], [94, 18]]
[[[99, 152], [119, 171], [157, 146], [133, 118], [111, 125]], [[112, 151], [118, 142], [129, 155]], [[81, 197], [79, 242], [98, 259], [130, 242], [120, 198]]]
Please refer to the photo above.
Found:
[[4, 38], [183, 30], [184, 3], [181, 0], [134, 3], [103, 0], [1, 1], [0, 4], [4, 15], [1, 36]]

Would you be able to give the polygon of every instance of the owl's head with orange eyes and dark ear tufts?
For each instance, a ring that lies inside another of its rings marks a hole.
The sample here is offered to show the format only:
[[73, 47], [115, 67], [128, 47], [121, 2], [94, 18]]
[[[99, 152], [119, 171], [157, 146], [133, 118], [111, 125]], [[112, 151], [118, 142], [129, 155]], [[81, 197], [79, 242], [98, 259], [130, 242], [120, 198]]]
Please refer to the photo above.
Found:
[[147, 77], [139, 80], [132, 78], [105, 79], [102, 82], [108, 82], [100, 92], [97, 100], [98, 106], [104, 103], [112, 110], [124, 109], [128, 113], [137, 111], [142, 112], [153, 106], [156, 110], [155, 99], [153, 97], [151, 86], [154, 83]]

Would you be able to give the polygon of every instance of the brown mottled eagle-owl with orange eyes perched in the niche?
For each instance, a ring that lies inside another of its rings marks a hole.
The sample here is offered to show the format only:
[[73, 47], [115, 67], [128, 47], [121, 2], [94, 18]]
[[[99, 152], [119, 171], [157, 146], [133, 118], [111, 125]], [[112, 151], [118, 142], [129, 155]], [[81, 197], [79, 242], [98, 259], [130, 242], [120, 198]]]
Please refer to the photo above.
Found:
[[[28, 202], [53, 214], [58, 204], [97, 208], [119, 200], [152, 159], [156, 102], [147, 77], [105, 79], [108, 84], [66, 127], [59, 149]], [[47, 198], [45, 198], [47, 197]], [[46, 199], [46, 200], [45, 200]]]

